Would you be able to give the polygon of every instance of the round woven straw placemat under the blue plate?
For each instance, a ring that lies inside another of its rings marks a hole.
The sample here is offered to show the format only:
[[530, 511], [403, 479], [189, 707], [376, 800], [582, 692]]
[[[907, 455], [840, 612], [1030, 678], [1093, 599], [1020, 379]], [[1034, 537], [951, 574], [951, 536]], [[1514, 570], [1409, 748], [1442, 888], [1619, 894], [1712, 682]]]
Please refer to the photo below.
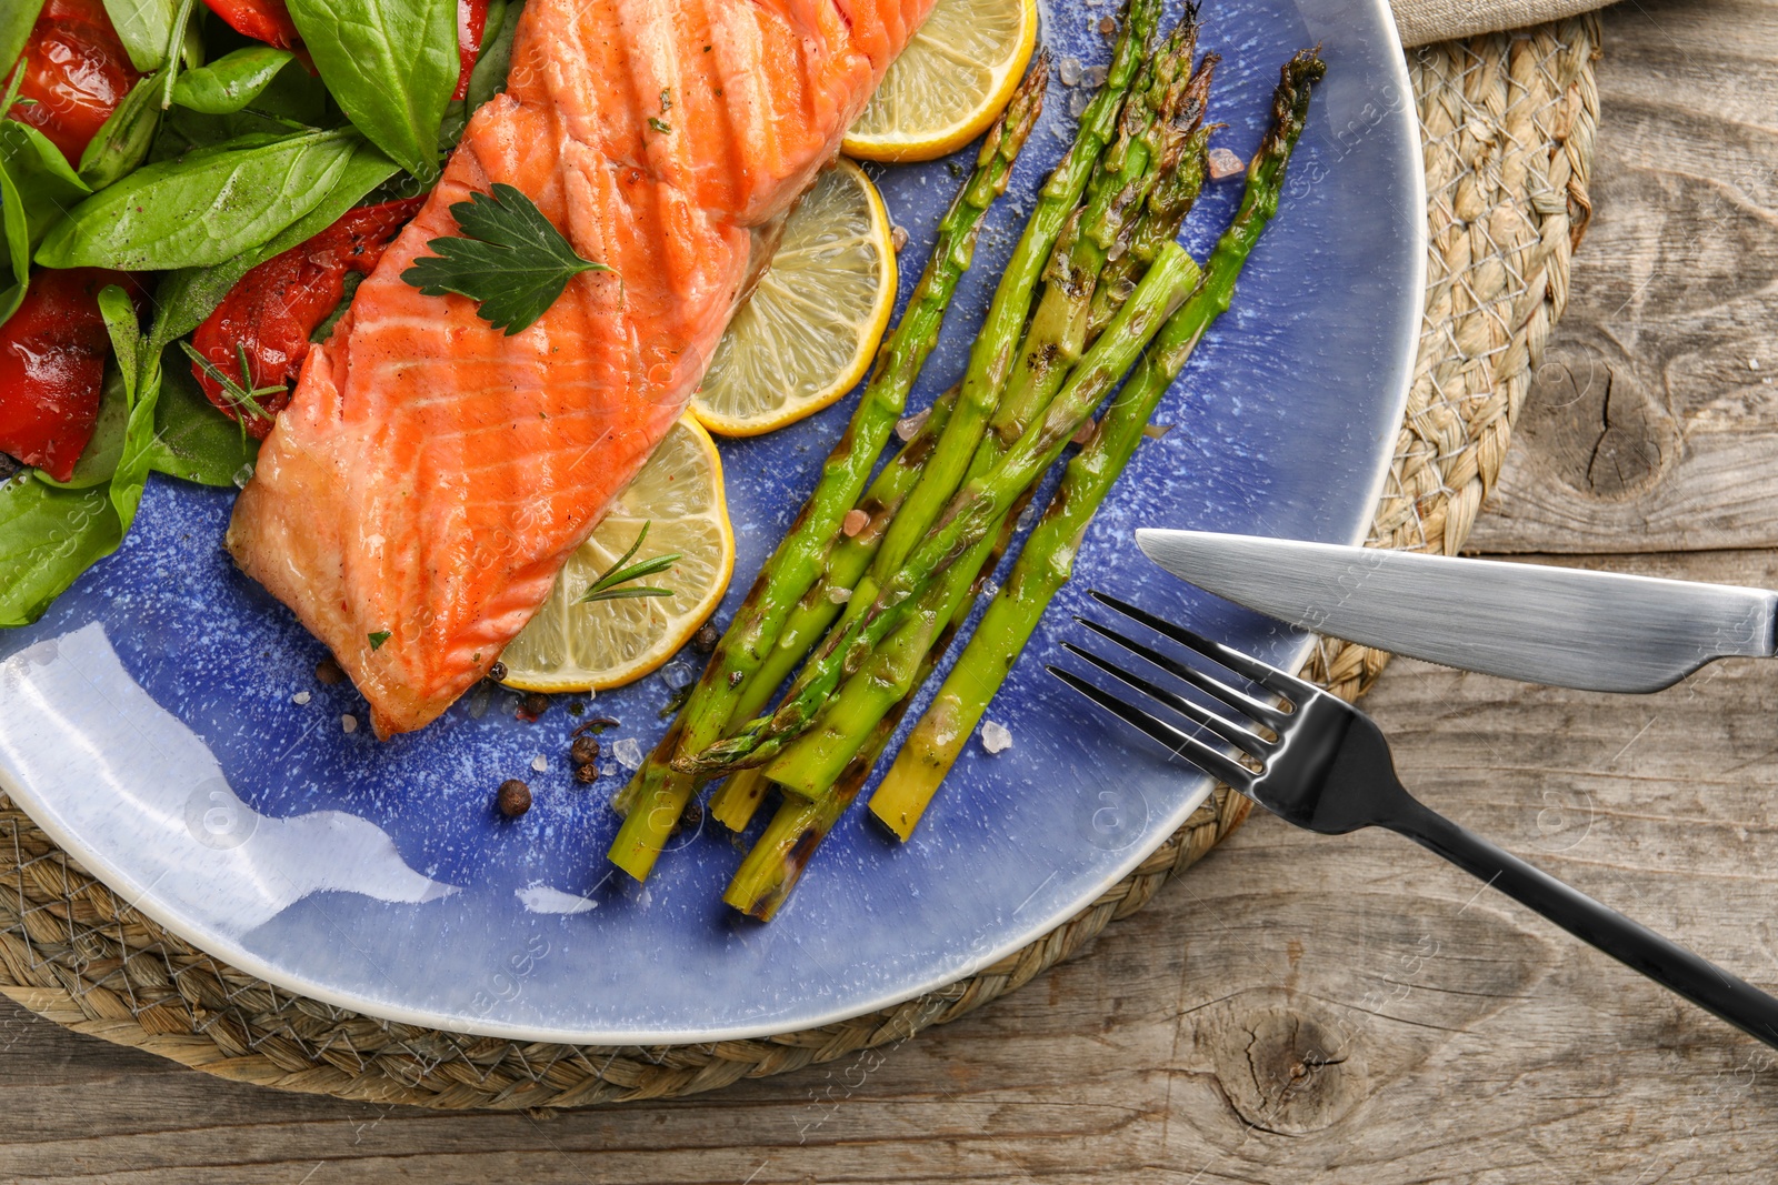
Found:
[[[1419, 362], [1371, 542], [1456, 553], [1568, 295], [1591, 211], [1598, 23], [1408, 57], [1426, 146], [1430, 284]], [[1312, 677], [1360, 695], [1385, 656], [1337, 641]], [[942, 991], [756, 1041], [578, 1046], [395, 1025], [194, 950], [114, 897], [0, 796], [0, 991], [66, 1025], [242, 1082], [425, 1107], [574, 1107], [692, 1094], [907, 1039], [1077, 954], [1246, 817], [1218, 791], [1129, 878], [1056, 931]]]

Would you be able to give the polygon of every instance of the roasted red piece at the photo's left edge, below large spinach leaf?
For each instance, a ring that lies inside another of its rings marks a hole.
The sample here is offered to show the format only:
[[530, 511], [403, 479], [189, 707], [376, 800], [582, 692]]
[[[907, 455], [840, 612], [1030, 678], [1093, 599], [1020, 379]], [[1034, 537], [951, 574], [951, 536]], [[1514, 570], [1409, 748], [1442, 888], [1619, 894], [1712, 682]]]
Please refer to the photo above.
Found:
[[73, 474], [100, 416], [112, 352], [98, 302], [105, 284], [140, 298], [123, 272], [44, 268], [0, 325], [0, 451], [57, 481]]

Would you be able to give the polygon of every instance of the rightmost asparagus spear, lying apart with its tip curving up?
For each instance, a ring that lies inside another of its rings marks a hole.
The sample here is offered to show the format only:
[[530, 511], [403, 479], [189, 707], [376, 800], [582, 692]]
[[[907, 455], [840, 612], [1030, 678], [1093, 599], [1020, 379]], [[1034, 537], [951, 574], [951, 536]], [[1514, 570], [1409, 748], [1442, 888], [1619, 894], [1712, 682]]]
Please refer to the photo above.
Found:
[[1168, 318], [1093, 441], [1069, 462], [1061, 487], [1026, 542], [1006, 588], [989, 606], [932, 707], [871, 794], [871, 814], [900, 839], [914, 831], [1051, 597], [1067, 583], [1086, 526], [1136, 451], [1156, 405], [1204, 330], [1229, 307], [1241, 266], [1278, 210], [1285, 165], [1309, 114], [1310, 85], [1325, 73], [1326, 66], [1314, 52], [1298, 53], [1284, 66], [1273, 96], [1271, 131], [1248, 165], [1241, 208], [1211, 252], [1202, 288]]

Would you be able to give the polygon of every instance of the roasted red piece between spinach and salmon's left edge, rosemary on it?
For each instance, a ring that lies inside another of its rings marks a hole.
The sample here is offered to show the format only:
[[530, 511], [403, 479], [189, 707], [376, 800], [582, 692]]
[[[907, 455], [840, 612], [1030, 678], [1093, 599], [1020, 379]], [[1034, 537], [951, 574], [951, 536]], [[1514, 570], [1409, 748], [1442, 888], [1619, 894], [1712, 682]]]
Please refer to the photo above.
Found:
[[[345, 274], [368, 275], [389, 240], [423, 203], [425, 197], [409, 197], [348, 210], [315, 238], [242, 275], [217, 311], [192, 334], [192, 346], [233, 387], [224, 387], [215, 375], [194, 362], [192, 377], [210, 402], [263, 441], [272, 430], [272, 418], [290, 403], [288, 384], [309, 354], [309, 334], [345, 295]], [[263, 394], [242, 398], [254, 391]]]

